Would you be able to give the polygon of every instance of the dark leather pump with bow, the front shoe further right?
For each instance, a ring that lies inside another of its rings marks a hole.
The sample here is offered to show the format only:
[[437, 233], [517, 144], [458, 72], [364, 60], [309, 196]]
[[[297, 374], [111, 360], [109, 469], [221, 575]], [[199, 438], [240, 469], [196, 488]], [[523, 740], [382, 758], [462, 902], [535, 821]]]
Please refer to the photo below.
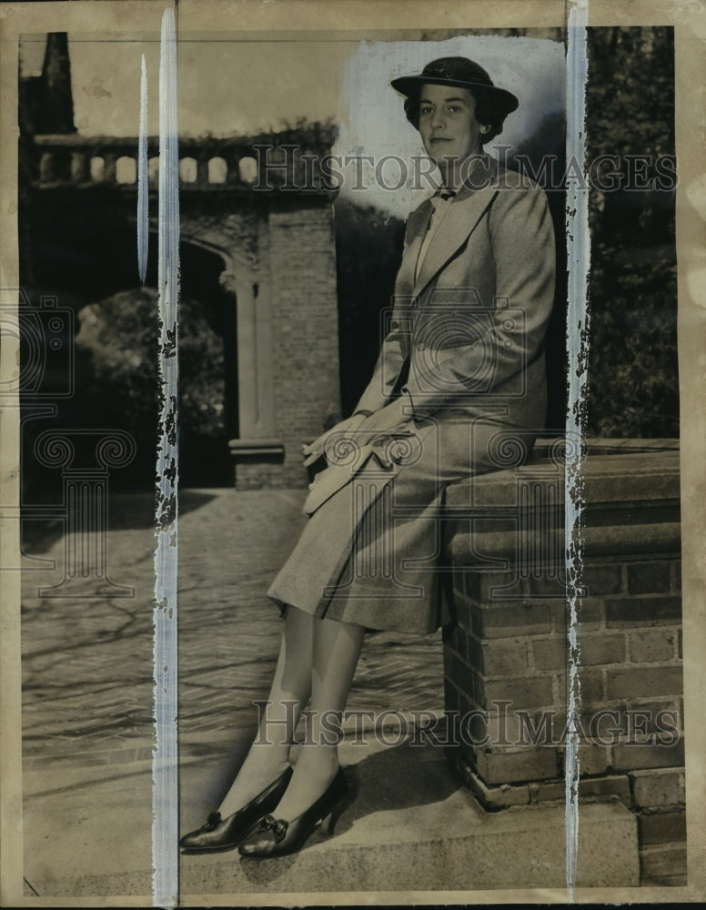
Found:
[[338, 820], [348, 798], [348, 781], [346, 775], [338, 768], [338, 773], [328, 786], [328, 790], [319, 796], [316, 803], [306, 812], [292, 819], [273, 818], [266, 815], [252, 832], [247, 835], [237, 848], [241, 856], [262, 859], [268, 856], [284, 856], [297, 853], [319, 824], [333, 834], [333, 827]]

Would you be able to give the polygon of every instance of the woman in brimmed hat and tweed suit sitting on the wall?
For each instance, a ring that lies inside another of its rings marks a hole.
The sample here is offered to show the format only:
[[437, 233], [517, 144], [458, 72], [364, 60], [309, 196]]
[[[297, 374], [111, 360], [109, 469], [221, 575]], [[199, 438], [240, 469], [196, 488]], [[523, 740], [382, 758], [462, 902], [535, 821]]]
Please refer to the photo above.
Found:
[[[340, 717], [366, 629], [433, 632], [449, 483], [509, 467], [543, 429], [543, 341], [554, 293], [547, 200], [483, 151], [518, 106], [465, 57], [395, 79], [442, 189], [408, 217], [395, 306], [355, 413], [305, 447], [325, 457], [308, 524], [268, 594], [286, 614], [256, 743], [185, 850], [297, 851], [345, 804]], [[312, 744], [289, 745], [309, 704]], [[287, 728], [287, 735], [280, 731]]]

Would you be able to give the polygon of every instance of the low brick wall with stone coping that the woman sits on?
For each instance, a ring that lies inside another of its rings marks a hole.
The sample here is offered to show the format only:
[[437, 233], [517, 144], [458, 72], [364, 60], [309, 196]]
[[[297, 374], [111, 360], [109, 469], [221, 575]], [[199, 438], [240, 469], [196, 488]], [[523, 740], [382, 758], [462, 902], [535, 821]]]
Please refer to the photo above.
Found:
[[[552, 531], [541, 515], [516, 523], [557, 539], [557, 558], [524, 572], [516, 532], [478, 532], [491, 526], [489, 501], [503, 504], [507, 526], [523, 471], [537, 476], [527, 465], [448, 495], [457, 619], [444, 641], [449, 758], [489, 809], [564, 799], [563, 530]], [[630, 807], [642, 875], [657, 879], [670, 864], [669, 875], [679, 871], [685, 838], [679, 452], [656, 445], [618, 457], [589, 454], [584, 477], [580, 799], [612, 797]], [[470, 507], [464, 514], [471, 502], [484, 506], [482, 521]], [[505, 571], [489, 571], [489, 561], [502, 558]]]

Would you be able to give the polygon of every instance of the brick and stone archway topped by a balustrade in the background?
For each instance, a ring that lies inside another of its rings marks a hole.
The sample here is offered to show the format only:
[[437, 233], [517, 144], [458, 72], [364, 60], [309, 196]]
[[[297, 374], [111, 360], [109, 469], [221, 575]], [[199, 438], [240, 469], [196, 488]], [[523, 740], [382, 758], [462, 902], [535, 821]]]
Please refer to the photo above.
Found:
[[[212, 257], [206, 272], [211, 288], [217, 283], [213, 297], [223, 301], [225, 311], [237, 314], [237, 357], [230, 358], [228, 377], [228, 388], [237, 391], [227, 409], [227, 442], [241, 489], [306, 486], [301, 444], [316, 438], [340, 411], [335, 192], [299, 173], [304, 158], [327, 152], [331, 141], [328, 127], [314, 125], [232, 140], [185, 139], [183, 147], [180, 142], [182, 160], [189, 159], [190, 166], [192, 158], [196, 162], [196, 178], [182, 177], [181, 182], [183, 249], [200, 248]], [[135, 283], [136, 184], [118, 185], [113, 166], [121, 156], [134, 159], [136, 139], [34, 136], [33, 143], [34, 236], [27, 271], [44, 255], [35, 248], [37, 235], [43, 233], [51, 243], [60, 226], [67, 251], [66, 262], [58, 264], [62, 280], [77, 252], [87, 264], [82, 274], [88, 291], [93, 293], [96, 283], [105, 285], [109, 275], [113, 289], [108, 293], [115, 293], [126, 287], [126, 267], [123, 254], [116, 257], [115, 244], [104, 237], [112, 230], [122, 238], [125, 259], [135, 270], [130, 283]], [[149, 143], [155, 146], [154, 139]], [[253, 157], [262, 147], [272, 151], [264, 163]], [[277, 163], [277, 152], [285, 148], [298, 149], [287, 165]], [[98, 157], [105, 167], [94, 174], [88, 164]], [[59, 167], [69, 159], [69, 170]], [[220, 169], [211, 167], [214, 162]], [[256, 168], [254, 176], [241, 173], [248, 162]], [[290, 164], [292, 175], [287, 170], [285, 179], [278, 170]], [[272, 185], [259, 180], [260, 167], [277, 172]], [[155, 196], [151, 179], [152, 212]], [[150, 227], [156, 231], [156, 217]], [[73, 232], [70, 242], [67, 232]], [[87, 255], [89, 249], [96, 249], [96, 258]], [[187, 277], [187, 268], [182, 275]], [[58, 287], [54, 278], [45, 283]], [[232, 338], [232, 326], [230, 331]]]

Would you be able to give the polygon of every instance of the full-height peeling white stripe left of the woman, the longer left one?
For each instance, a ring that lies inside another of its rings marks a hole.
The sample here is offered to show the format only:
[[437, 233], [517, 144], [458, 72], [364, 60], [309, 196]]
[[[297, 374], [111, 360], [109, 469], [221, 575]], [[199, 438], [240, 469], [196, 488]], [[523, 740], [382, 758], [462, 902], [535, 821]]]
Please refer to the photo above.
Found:
[[177, 305], [179, 296], [179, 160], [176, 120], [176, 22], [162, 17], [159, 58], [159, 373], [156, 459], [154, 701], [152, 755], [153, 903], [175, 906], [178, 895], [176, 763], [176, 571], [178, 441]]

